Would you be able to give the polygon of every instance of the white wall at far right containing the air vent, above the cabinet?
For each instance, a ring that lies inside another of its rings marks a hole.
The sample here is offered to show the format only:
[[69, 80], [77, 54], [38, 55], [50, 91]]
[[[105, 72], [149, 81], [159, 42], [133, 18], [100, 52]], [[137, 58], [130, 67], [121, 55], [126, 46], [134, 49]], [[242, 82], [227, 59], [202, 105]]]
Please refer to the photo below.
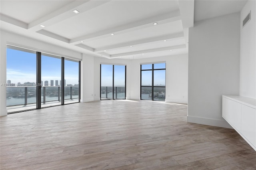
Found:
[[[251, 20], [242, 28], [250, 11]], [[249, 0], [240, 16], [240, 96], [256, 99], [256, 1]]]

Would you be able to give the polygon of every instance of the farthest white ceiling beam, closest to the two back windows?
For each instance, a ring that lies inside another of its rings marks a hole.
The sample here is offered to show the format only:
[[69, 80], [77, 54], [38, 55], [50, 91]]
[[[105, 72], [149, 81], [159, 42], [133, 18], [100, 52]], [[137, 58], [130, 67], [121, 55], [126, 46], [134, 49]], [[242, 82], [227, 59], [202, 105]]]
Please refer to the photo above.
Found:
[[146, 49], [146, 50], [141, 50], [141, 51], [133, 51], [133, 52], [128, 52], [128, 53], [113, 54], [113, 55], [110, 55], [110, 57], [122, 57], [122, 56], [126, 56], [126, 55], [152, 53], [152, 52], [156, 52], [156, 51], [166, 51], [166, 50], [171, 50], [171, 49], [182, 49], [182, 48], [186, 48], [186, 45], [182, 44], [182, 45], [175, 45], [175, 46], [170, 46], [170, 47], [162, 47], [162, 48]]

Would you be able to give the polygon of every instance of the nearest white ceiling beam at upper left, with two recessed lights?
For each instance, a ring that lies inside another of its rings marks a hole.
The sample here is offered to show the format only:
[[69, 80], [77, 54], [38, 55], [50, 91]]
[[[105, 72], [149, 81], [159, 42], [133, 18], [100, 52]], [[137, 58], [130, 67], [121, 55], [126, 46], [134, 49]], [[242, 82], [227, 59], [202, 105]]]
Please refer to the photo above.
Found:
[[[45, 28], [48, 26], [54, 25], [58, 22], [61, 22], [63, 20], [66, 20], [68, 18], [71, 18], [73, 16], [79, 15], [80, 13], [86, 12], [92, 8], [95, 8], [97, 6], [100, 6], [102, 4], [105, 4], [109, 2], [109, 0], [75, 0], [66, 6], [59, 8], [58, 10], [39, 18], [38, 20], [35, 20], [34, 22], [31, 22], [28, 24], [28, 29], [32, 30], [34, 32], [38, 30], [42, 30], [43, 28], [40, 27], [40, 25], [44, 25]], [[73, 10], [78, 10], [79, 13], [75, 14]]]

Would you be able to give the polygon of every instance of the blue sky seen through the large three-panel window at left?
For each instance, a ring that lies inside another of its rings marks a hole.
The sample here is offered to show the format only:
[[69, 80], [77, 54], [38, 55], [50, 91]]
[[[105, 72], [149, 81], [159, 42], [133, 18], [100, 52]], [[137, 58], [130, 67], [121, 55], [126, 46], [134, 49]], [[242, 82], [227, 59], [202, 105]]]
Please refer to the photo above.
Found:
[[[36, 82], [36, 53], [7, 48], [6, 80], [11, 83]], [[78, 84], [78, 62], [65, 60], [66, 84]], [[58, 80], [60, 84], [61, 60], [42, 55], [42, 81]]]

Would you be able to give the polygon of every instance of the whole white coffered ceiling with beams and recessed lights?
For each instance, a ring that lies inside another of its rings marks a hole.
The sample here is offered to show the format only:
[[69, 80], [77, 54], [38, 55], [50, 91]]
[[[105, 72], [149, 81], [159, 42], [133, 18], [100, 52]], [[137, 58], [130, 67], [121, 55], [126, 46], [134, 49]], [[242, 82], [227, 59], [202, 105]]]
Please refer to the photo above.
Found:
[[[233, 13], [244, 4], [237, 0], [0, 0], [0, 19], [1, 30], [92, 56], [139, 59], [188, 53], [188, 28], [193, 27], [194, 16], [198, 21]], [[80, 13], [72, 12], [75, 9]]]

